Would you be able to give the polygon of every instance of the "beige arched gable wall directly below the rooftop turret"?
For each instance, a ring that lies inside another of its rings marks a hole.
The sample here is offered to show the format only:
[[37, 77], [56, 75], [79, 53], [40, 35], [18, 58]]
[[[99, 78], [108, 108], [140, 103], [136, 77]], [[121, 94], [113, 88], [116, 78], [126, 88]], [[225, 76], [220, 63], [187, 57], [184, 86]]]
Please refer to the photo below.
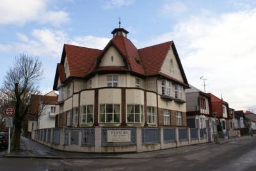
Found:
[[[111, 61], [111, 56], [113, 56], [113, 61]], [[125, 63], [116, 48], [110, 47], [102, 57], [100, 66], [125, 66]]]

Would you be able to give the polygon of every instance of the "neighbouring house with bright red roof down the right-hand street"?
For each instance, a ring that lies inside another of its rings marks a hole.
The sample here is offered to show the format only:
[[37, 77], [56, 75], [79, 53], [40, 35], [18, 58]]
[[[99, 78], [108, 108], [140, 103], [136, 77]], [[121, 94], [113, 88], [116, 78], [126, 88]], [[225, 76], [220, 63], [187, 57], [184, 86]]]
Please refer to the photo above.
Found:
[[218, 121], [220, 121], [223, 132], [227, 130], [227, 123], [230, 119], [228, 103], [222, 99], [214, 96], [212, 93], [207, 93], [211, 96], [212, 113], [216, 114]]

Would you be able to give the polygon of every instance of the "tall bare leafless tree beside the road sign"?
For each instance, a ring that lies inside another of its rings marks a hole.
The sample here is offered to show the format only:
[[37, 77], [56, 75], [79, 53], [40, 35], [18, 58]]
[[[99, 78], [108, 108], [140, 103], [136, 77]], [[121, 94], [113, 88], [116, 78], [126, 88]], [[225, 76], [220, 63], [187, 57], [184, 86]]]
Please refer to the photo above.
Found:
[[42, 62], [38, 57], [20, 54], [4, 77], [3, 87], [1, 87], [3, 101], [5, 104], [15, 106], [12, 137], [15, 151], [20, 149], [22, 121], [28, 112], [31, 94], [38, 93], [38, 82], [42, 79], [42, 74]]

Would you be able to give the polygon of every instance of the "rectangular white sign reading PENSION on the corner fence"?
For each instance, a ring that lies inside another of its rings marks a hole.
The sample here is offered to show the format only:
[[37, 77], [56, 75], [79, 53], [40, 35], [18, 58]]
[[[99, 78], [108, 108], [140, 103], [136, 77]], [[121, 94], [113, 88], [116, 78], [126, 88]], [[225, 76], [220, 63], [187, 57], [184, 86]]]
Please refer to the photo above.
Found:
[[131, 142], [131, 130], [108, 130], [108, 142]]

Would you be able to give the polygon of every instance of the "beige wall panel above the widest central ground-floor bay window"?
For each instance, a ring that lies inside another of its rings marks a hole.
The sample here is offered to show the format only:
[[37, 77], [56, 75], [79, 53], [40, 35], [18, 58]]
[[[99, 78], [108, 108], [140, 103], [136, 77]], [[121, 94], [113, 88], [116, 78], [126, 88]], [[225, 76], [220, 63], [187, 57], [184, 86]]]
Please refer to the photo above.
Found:
[[100, 103], [121, 104], [121, 89], [99, 89], [99, 104]]

